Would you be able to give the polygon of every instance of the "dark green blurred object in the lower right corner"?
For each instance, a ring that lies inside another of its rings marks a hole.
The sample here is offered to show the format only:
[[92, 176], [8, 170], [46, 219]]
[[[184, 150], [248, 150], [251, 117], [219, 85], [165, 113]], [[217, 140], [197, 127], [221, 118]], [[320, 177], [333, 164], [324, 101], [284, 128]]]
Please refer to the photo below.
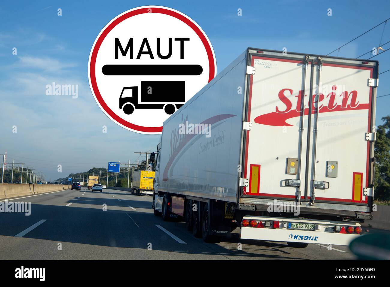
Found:
[[390, 260], [390, 232], [363, 235], [349, 244], [358, 260]]

